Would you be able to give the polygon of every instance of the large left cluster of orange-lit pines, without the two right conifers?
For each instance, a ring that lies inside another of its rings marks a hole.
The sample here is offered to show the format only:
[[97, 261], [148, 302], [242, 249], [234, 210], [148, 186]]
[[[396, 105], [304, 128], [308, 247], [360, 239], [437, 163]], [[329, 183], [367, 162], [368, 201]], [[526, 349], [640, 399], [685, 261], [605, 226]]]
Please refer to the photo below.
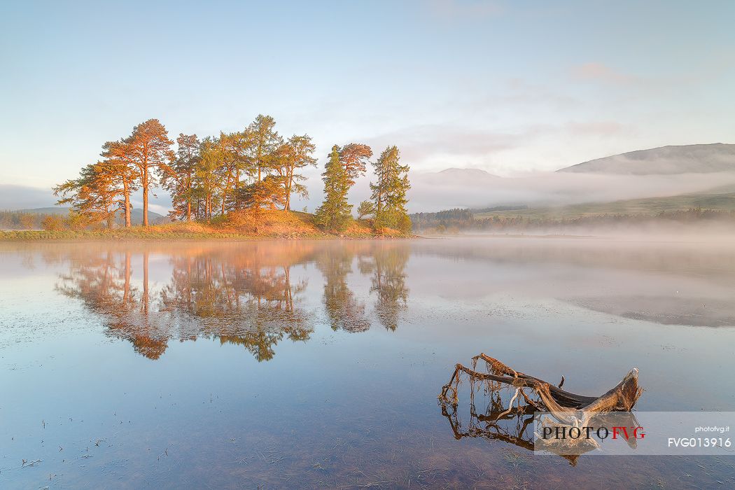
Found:
[[243, 131], [200, 139], [179, 134], [174, 142], [159, 120], [133, 128], [129, 137], [102, 146], [101, 159], [82, 168], [77, 179], [54, 187], [60, 204], [69, 204], [88, 223], [114, 225], [118, 211], [131, 226], [131, 195], [143, 195], [143, 226], [148, 197], [156, 187], [171, 193], [176, 220], [212, 220], [236, 209], [290, 209], [291, 195], [306, 195], [301, 170], [316, 165], [311, 137], [285, 140], [276, 122], [258, 115]]

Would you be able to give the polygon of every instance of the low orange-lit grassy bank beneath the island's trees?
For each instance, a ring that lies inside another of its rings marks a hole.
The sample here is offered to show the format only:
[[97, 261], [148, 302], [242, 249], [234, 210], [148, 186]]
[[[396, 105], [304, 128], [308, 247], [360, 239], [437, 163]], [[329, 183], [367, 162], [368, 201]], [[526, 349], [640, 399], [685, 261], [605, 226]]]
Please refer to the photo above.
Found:
[[166, 223], [111, 230], [24, 230], [0, 231], [0, 240], [164, 240], [164, 239], [369, 239], [406, 238], [410, 234], [386, 228], [373, 232], [368, 220], [354, 220], [339, 233], [328, 233], [304, 212], [261, 211], [257, 215], [228, 215], [213, 223]]

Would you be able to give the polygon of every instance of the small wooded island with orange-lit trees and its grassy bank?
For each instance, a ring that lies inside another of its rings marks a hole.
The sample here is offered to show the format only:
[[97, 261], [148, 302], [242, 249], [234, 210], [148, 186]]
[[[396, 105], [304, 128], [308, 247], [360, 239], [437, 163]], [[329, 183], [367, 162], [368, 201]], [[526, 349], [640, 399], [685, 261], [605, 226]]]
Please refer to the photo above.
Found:
[[[288, 139], [276, 122], [258, 115], [243, 131], [200, 139], [179, 134], [176, 142], [157, 119], [132, 134], [102, 145], [101, 158], [82, 167], [76, 179], [54, 187], [57, 214], [12, 217], [19, 228], [0, 239], [321, 239], [411, 237], [406, 192], [409, 166], [388, 146], [371, 161], [362, 143], [334, 145], [324, 171], [324, 198], [313, 214], [291, 209], [293, 195], [308, 195], [304, 169], [316, 167], [308, 134]], [[368, 165], [375, 180], [370, 200], [352, 215], [348, 192]], [[169, 223], [151, 223], [148, 196], [157, 188], [171, 195]], [[133, 223], [131, 197], [143, 200], [140, 224]]]

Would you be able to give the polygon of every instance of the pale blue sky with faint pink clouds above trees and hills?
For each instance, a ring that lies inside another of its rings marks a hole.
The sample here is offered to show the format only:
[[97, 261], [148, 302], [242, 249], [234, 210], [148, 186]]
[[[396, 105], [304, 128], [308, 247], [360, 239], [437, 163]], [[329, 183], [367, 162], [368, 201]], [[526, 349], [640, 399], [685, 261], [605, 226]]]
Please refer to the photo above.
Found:
[[[735, 1], [2, 1], [0, 184], [50, 187], [159, 118], [273, 115], [413, 170], [554, 170], [735, 143]], [[312, 175], [318, 172], [314, 170]]]

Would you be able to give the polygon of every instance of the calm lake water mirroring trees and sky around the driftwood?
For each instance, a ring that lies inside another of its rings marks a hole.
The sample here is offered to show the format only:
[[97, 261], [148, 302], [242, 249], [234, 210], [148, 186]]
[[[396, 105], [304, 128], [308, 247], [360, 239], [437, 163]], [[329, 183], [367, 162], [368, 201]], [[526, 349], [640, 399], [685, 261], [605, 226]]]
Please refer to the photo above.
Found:
[[437, 403], [484, 352], [735, 411], [730, 245], [6, 243], [0, 273], [0, 488], [735, 486], [735, 458], [570, 464]]

